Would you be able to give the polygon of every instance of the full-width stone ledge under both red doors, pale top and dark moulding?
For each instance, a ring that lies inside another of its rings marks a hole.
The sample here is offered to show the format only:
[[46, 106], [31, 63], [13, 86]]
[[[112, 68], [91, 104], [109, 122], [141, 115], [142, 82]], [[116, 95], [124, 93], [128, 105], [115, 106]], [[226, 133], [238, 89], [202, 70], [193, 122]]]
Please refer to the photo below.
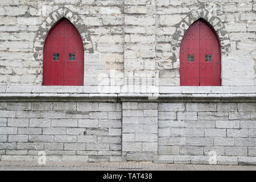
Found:
[[[256, 102], [256, 86], [160, 86], [159, 93], [98, 92], [103, 87], [0, 85], [0, 101]], [[117, 86], [106, 87], [120, 91]]]

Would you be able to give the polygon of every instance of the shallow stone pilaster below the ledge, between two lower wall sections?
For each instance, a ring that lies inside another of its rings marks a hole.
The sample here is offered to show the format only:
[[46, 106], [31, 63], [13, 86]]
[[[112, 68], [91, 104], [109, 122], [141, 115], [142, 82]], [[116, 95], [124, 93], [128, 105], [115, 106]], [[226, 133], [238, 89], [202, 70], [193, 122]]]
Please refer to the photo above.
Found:
[[158, 104], [123, 102], [122, 151], [127, 160], [153, 160], [158, 154]]

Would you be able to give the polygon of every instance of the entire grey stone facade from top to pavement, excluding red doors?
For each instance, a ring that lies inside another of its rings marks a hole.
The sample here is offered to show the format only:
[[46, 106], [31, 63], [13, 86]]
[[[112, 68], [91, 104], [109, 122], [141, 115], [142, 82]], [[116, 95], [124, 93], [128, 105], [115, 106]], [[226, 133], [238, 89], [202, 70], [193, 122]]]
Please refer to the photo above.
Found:
[[[0, 1], [0, 159], [256, 164], [255, 2]], [[67, 18], [84, 86], [42, 86], [43, 46]], [[179, 46], [203, 18], [222, 86], [180, 86]]]

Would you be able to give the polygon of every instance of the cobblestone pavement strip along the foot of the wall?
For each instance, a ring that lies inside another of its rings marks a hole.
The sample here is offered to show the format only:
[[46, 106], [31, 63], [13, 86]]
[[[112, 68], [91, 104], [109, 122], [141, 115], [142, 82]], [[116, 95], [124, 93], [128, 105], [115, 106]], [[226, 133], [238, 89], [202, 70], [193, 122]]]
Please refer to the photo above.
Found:
[[77, 170], [77, 171], [256, 171], [256, 166], [224, 166], [201, 164], [156, 164], [156, 163], [82, 163], [82, 162], [37, 162], [2, 161], [0, 170]]

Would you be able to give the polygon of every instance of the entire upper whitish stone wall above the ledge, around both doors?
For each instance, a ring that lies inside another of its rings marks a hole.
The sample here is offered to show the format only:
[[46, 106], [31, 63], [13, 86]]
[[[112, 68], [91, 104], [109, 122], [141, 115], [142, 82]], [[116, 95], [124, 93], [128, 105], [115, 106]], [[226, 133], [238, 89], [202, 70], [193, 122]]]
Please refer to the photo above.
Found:
[[146, 78], [154, 85], [179, 86], [179, 45], [199, 18], [220, 39], [222, 86], [255, 85], [256, 6], [251, 0], [3, 0], [0, 6], [1, 84], [42, 85], [44, 39], [65, 17], [84, 42], [84, 85], [122, 90], [127, 78], [137, 85]]

